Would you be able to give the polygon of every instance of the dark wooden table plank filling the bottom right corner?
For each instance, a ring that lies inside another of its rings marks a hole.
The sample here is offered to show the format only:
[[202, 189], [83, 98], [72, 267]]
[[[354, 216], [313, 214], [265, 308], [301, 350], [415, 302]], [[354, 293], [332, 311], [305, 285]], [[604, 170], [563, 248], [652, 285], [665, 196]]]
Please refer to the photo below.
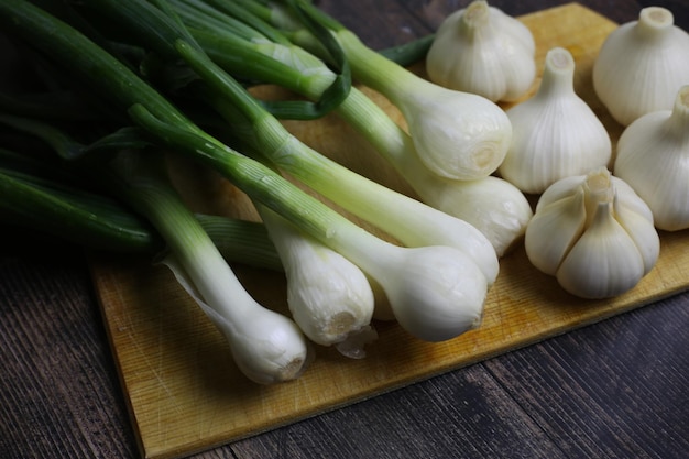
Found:
[[485, 367], [569, 457], [683, 458], [689, 347], [666, 337], [686, 336], [687, 306], [669, 298]]

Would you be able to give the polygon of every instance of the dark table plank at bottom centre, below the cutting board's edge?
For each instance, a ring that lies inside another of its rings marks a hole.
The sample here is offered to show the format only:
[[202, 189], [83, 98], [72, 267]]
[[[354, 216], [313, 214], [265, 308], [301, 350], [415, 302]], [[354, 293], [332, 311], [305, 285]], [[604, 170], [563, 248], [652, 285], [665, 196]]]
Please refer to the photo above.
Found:
[[[369, 440], [349, 440], [362, 436]], [[566, 458], [481, 364], [238, 441], [232, 450], [254, 459], [332, 451], [368, 459]]]

